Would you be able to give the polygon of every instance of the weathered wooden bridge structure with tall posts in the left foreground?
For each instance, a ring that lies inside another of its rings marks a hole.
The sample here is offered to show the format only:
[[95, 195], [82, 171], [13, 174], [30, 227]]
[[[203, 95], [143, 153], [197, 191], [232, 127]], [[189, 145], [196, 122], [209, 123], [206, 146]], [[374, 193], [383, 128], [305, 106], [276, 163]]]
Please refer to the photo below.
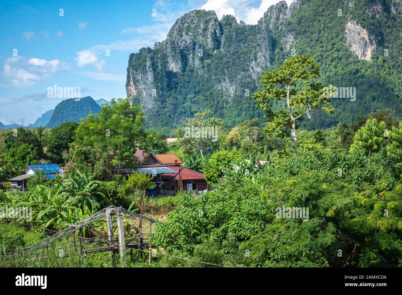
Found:
[[121, 266], [127, 264], [126, 248], [138, 250], [142, 257], [143, 249], [149, 249], [149, 260], [152, 247], [152, 225], [156, 220], [143, 216], [122, 207], [109, 206], [55, 232], [55, 234], [27, 248], [6, 251], [7, 256], [25, 255], [39, 252], [40, 258], [46, 258], [49, 250], [57, 249], [59, 256], [81, 253], [86, 261], [86, 255], [94, 252], [110, 251], [112, 263], [113, 254], [119, 252]]

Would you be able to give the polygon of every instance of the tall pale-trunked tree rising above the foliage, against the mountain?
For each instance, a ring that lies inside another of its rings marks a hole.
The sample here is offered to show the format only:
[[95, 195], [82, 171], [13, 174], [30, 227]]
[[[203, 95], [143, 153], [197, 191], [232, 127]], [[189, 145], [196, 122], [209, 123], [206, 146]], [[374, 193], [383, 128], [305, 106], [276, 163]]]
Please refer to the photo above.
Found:
[[[310, 83], [312, 79], [320, 77], [319, 70], [315, 57], [309, 57], [306, 53], [296, 55], [285, 61], [279, 69], [266, 71], [261, 77], [265, 90], [252, 96], [257, 106], [265, 111], [266, 131], [277, 131], [281, 136], [291, 135], [293, 154], [296, 153], [296, 121], [303, 120], [306, 114], [310, 117], [314, 109], [334, 112], [334, 108], [328, 106], [334, 93], [325, 95], [321, 83]], [[328, 87], [332, 90], [332, 86]], [[272, 110], [271, 103], [275, 100], [280, 102], [283, 110]]]

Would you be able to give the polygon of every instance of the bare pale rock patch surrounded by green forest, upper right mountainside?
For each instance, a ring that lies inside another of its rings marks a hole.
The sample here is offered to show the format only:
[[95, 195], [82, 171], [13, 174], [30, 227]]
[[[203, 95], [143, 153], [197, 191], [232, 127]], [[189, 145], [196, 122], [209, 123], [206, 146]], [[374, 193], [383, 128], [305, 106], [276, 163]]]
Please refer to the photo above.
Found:
[[346, 44], [350, 50], [357, 54], [359, 59], [371, 60], [371, 54], [377, 53], [374, 37], [357, 24], [356, 20], [346, 23]]

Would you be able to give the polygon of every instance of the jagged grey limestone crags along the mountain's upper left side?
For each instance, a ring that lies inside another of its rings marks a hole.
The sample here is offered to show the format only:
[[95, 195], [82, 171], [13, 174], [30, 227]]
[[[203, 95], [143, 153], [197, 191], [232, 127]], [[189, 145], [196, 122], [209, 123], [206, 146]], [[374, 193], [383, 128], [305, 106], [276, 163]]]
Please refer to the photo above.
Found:
[[[147, 112], [160, 105], [168, 92], [170, 72], [193, 71], [201, 76], [213, 76], [213, 87], [222, 91], [230, 102], [230, 96], [243, 91], [239, 87], [242, 81], [252, 79], [256, 85], [261, 71], [271, 65], [273, 31], [285, 32], [280, 42], [289, 50], [293, 35], [283, 27], [296, 7], [296, 2], [288, 8], [281, 1], [271, 6], [254, 26], [238, 24], [230, 15], [219, 21], [213, 11], [194, 10], [183, 15], [164, 41], [156, 42], [153, 49], [143, 48], [130, 55], [127, 97], [135, 98], [135, 103], [143, 104]], [[239, 52], [246, 56], [242, 57], [241, 67], [233, 67], [234, 62], [239, 62], [234, 59]], [[211, 65], [214, 60], [228, 63], [218, 71]]]

